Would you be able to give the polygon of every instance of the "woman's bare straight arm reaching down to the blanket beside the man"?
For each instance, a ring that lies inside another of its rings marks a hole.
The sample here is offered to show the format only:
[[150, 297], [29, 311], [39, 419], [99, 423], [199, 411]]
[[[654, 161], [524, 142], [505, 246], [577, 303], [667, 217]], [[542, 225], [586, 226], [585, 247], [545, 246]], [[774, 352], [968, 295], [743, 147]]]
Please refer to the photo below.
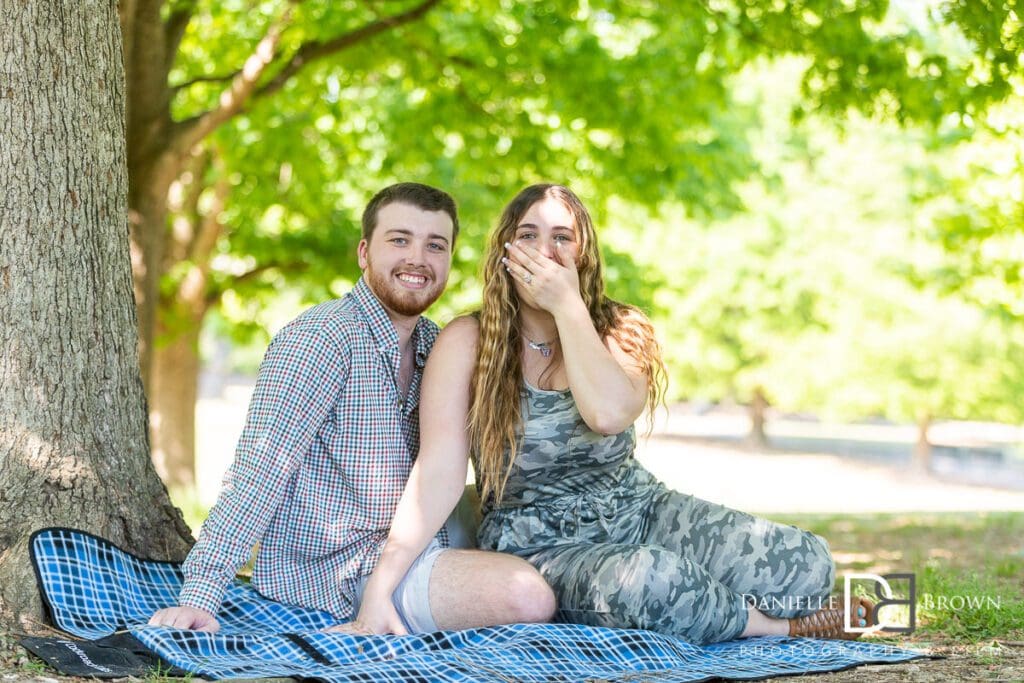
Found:
[[427, 359], [420, 394], [420, 455], [395, 509], [380, 560], [370, 575], [350, 631], [404, 634], [391, 595], [414, 560], [455, 509], [466, 486], [470, 381], [477, 323], [454, 321]]

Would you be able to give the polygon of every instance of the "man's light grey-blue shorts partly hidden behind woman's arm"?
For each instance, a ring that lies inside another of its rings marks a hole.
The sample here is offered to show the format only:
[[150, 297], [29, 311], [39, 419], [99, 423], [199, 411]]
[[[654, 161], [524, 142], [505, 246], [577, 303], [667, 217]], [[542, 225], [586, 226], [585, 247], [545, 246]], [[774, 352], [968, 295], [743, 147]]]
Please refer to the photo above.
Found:
[[[472, 512], [464, 497], [456, 506], [452, 516], [444, 522], [449, 529], [452, 548], [476, 547], [471, 519]], [[434, 569], [437, 558], [444, 550], [436, 538], [431, 539], [430, 545], [420, 553], [413, 565], [409, 567], [406, 577], [394, 589], [391, 596], [391, 602], [394, 603], [398, 616], [401, 617], [406, 630], [410, 633], [433, 633], [438, 630], [434, 615], [430, 611], [430, 573]], [[362, 591], [369, 580], [370, 577], [364, 577], [355, 590], [355, 613], [358, 613], [359, 605], [362, 604]]]

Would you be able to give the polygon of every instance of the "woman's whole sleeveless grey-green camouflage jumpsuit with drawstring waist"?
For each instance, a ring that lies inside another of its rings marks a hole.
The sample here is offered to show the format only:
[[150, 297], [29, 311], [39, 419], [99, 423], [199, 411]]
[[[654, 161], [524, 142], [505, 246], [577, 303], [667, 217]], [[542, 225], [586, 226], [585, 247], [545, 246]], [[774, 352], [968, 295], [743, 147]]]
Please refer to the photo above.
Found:
[[739, 636], [749, 601], [790, 617], [827, 600], [835, 565], [820, 537], [669, 489], [634, 459], [632, 427], [592, 431], [568, 391], [525, 386], [523, 422], [477, 540], [534, 564], [561, 621], [702, 645]]

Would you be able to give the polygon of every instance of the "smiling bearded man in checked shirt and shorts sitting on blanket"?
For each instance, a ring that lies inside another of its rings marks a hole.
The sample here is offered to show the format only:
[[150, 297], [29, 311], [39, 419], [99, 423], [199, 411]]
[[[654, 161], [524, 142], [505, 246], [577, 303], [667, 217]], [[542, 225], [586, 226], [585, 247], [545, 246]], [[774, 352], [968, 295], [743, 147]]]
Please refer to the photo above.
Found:
[[[352, 617], [418, 451], [421, 375], [438, 332], [420, 313], [444, 289], [458, 232], [454, 200], [434, 187], [399, 183], [370, 201], [362, 278], [270, 343], [178, 606], [150, 624], [217, 631], [257, 543], [252, 583], [263, 595]], [[395, 631], [550, 618], [551, 589], [526, 562], [447, 545], [445, 528], [395, 589]]]

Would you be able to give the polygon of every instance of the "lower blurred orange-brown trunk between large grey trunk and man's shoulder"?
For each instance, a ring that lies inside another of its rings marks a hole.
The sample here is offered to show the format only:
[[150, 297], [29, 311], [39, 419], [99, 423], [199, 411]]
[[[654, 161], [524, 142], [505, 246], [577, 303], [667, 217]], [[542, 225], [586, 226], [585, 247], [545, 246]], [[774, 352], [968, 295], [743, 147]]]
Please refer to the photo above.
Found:
[[150, 427], [153, 462], [171, 488], [196, 483], [196, 400], [199, 397], [199, 335], [203, 318], [161, 326], [153, 349]]

